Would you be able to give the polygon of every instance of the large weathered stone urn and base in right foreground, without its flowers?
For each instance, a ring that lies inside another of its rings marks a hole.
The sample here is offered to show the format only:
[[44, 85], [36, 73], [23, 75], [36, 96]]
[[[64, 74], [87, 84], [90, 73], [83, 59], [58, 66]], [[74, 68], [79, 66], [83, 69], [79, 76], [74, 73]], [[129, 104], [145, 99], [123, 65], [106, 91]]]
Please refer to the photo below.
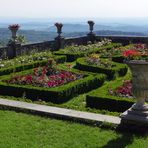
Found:
[[148, 61], [131, 60], [126, 62], [132, 72], [132, 92], [136, 103], [121, 114], [121, 121], [148, 126]]

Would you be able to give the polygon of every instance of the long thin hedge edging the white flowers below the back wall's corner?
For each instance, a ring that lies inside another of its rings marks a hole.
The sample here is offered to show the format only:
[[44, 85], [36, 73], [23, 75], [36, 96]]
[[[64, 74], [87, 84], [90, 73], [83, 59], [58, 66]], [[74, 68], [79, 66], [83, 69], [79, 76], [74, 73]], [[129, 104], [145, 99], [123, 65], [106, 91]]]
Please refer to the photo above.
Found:
[[67, 62], [73, 62], [77, 58], [83, 57], [83, 56], [91, 54], [91, 53], [98, 53], [102, 49], [110, 50], [111, 48], [116, 48], [116, 47], [120, 47], [120, 46], [121, 46], [121, 44], [119, 44], [119, 43], [111, 43], [109, 45], [105, 45], [105, 46], [102, 46], [100, 48], [96, 48], [96, 49], [86, 51], [86, 52], [79, 52], [79, 53], [66, 53], [65, 50], [67, 50], [67, 49], [65, 48], [65, 50], [61, 49], [59, 51], [53, 52], [53, 54], [55, 54], [55, 55], [66, 55]]

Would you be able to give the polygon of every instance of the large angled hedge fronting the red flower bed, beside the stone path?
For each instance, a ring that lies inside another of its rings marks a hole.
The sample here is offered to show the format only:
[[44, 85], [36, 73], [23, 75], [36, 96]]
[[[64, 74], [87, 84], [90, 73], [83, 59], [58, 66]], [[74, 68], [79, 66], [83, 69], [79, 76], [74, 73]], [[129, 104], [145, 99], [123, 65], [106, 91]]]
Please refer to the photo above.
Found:
[[[16, 75], [24, 75], [31, 73], [32, 70], [17, 73]], [[2, 76], [2, 80], [9, 80], [11, 76]], [[25, 96], [31, 100], [45, 100], [53, 103], [63, 103], [68, 101], [70, 98], [77, 96], [78, 94], [88, 92], [95, 89], [105, 81], [105, 75], [87, 75], [82, 79], [70, 82], [68, 84], [54, 87], [54, 88], [43, 88], [35, 87], [31, 85], [17, 85], [7, 84], [0, 82], [0, 95], [8, 95], [15, 97]]]

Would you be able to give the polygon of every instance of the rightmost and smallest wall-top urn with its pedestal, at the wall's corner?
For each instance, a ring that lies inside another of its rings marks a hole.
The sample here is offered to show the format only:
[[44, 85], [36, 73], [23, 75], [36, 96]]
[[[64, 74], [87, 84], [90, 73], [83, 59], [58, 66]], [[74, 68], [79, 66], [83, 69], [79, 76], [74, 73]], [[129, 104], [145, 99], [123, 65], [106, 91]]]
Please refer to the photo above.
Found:
[[93, 21], [88, 21], [87, 23], [89, 25], [89, 30], [90, 30], [90, 32], [87, 34], [87, 40], [88, 41], [91, 41], [92, 43], [94, 43], [95, 40], [96, 40], [96, 35], [93, 32], [93, 30], [94, 30], [94, 24], [95, 23]]

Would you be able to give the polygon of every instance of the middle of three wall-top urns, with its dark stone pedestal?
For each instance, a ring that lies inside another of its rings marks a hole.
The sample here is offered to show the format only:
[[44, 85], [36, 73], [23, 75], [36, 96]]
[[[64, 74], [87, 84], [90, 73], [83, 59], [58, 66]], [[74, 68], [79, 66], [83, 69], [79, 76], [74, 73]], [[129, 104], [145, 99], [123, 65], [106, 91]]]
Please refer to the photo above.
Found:
[[57, 28], [57, 33], [58, 33], [58, 36], [55, 38], [55, 49], [59, 50], [61, 48], [64, 48], [65, 45], [65, 39], [63, 36], [61, 36], [63, 24], [55, 23], [55, 26]]

